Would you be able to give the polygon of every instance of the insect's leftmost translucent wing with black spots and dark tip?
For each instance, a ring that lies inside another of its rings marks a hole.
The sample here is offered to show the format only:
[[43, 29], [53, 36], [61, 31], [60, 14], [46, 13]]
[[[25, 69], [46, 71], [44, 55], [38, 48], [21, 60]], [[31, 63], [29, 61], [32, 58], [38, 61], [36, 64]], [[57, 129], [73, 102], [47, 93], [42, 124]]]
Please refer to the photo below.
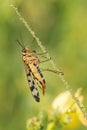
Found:
[[26, 70], [26, 75], [27, 75], [27, 80], [28, 80], [28, 84], [30, 86], [30, 90], [31, 90], [31, 93], [34, 97], [34, 99], [37, 101], [37, 102], [40, 102], [40, 97], [39, 97], [39, 92], [35, 86], [35, 82], [34, 82], [34, 79], [33, 79], [33, 75], [32, 75], [32, 72], [29, 68], [28, 65], [25, 65], [25, 70]]

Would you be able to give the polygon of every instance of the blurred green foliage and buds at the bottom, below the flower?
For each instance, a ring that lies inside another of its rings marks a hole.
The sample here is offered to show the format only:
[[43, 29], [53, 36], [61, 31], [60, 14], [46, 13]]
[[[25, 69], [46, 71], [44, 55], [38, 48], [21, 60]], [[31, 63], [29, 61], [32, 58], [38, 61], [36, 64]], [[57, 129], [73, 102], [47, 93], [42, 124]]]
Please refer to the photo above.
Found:
[[[62, 117], [63, 116], [63, 117]], [[61, 129], [66, 124], [64, 123], [64, 118], [67, 117], [67, 114], [60, 115], [58, 110], [51, 111], [51, 114], [47, 111], [39, 112], [37, 117], [28, 119], [27, 121], [27, 130], [57, 130]], [[62, 120], [61, 120], [62, 119]]]

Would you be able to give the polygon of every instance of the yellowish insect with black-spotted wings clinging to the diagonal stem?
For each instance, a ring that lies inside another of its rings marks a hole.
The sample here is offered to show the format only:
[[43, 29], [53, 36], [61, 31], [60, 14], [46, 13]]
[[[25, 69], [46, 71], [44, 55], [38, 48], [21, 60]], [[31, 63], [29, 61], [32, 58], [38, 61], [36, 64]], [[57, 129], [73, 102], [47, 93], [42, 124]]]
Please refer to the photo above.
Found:
[[[22, 47], [22, 60], [25, 66], [26, 76], [28, 84], [30, 86], [31, 93], [37, 102], [40, 102], [39, 92], [36, 87], [36, 83], [41, 86], [43, 95], [45, 94], [46, 83], [43, 74], [39, 68], [39, 59], [35, 50], [29, 50], [25, 48], [21, 42], [17, 42]], [[35, 82], [36, 81], [36, 82]]]

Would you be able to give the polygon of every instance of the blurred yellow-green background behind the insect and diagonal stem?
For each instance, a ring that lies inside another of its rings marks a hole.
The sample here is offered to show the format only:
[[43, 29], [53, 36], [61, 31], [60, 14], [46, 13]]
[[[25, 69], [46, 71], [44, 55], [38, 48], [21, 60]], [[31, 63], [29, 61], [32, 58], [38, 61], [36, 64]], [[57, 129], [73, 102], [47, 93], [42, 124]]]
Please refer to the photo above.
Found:
[[[14, 0], [14, 3], [74, 91], [83, 88], [87, 108], [87, 0]], [[43, 107], [49, 109], [55, 96], [66, 90], [58, 76], [44, 72], [46, 95], [43, 97], [40, 92], [41, 102], [34, 101], [17, 39], [41, 52], [36, 42], [31, 45], [31, 34], [8, 2], [0, 0], [0, 130], [26, 130], [27, 119], [36, 116]], [[87, 128], [79, 122], [74, 129]]]

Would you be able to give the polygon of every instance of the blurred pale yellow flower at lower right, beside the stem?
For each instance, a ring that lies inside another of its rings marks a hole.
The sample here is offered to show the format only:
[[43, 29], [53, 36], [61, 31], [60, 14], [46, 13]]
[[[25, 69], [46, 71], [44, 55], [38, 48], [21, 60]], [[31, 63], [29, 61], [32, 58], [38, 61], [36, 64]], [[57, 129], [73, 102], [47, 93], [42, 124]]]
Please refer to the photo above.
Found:
[[[75, 97], [82, 102], [83, 96], [81, 95], [81, 88], [77, 89], [75, 93]], [[62, 118], [62, 121], [67, 119], [66, 114], [68, 117], [72, 117], [71, 113], [74, 113], [74, 115], [77, 115], [78, 119], [81, 121], [81, 123], [85, 126], [87, 126], [87, 120], [85, 119], [81, 109], [77, 105], [76, 101], [72, 98], [72, 95], [69, 91], [65, 91], [61, 94], [59, 94], [52, 103], [52, 108], [54, 110], [58, 109], [58, 114], [61, 115], [60, 119]], [[75, 116], [74, 116], [75, 118]], [[73, 119], [74, 120], [74, 119]], [[67, 122], [68, 123], [68, 122]]]

